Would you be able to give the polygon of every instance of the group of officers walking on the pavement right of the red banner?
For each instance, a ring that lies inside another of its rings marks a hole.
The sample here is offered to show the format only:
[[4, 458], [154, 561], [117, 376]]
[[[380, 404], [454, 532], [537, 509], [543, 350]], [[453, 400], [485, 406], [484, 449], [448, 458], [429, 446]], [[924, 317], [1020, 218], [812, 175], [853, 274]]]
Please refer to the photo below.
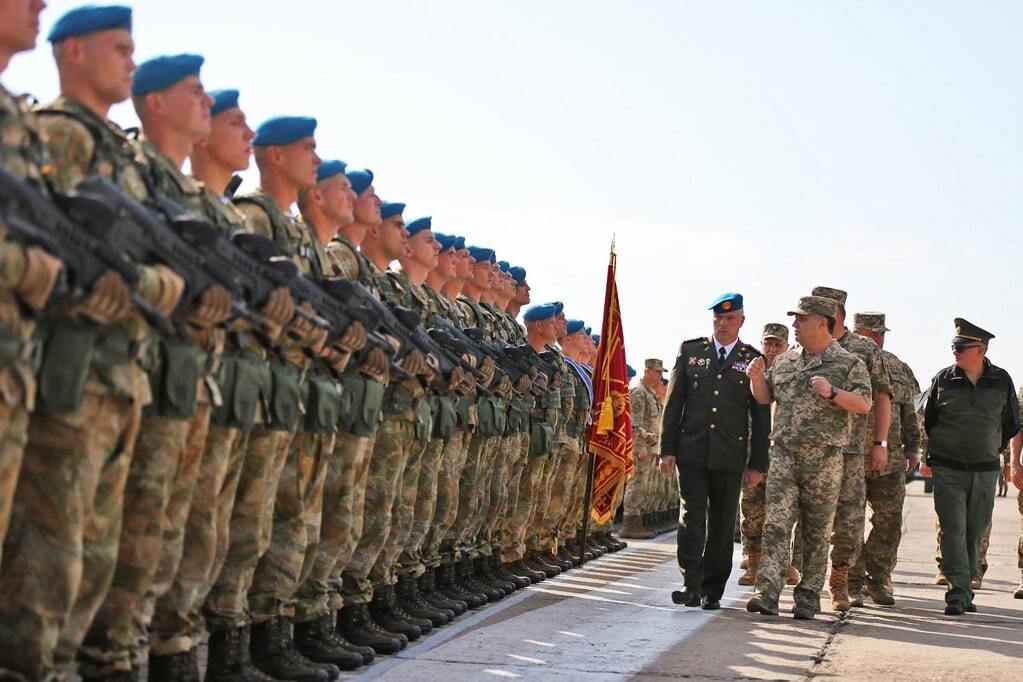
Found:
[[976, 610], [978, 551], [1010, 444], [1007, 474], [1023, 491], [1020, 405], [1009, 374], [986, 358], [993, 334], [955, 319], [955, 363], [934, 377], [918, 418], [920, 387], [884, 350], [884, 313], [857, 313], [850, 329], [846, 299], [815, 287], [789, 312], [796, 345], [769, 323], [758, 350], [739, 339], [743, 297], [725, 293], [711, 306], [713, 335], [679, 348], [660, 438], [660, 466], [677, 470], [683, 507], [675, 603], [720, 608], [741, 496], [748, 610], [776, 616], [789, 584], [794, 617], [811, 620], [826, 577], [835, 610], [862, 606], [864, 594], [893, 605], [905, 473], [926, 452], [944, 612]]

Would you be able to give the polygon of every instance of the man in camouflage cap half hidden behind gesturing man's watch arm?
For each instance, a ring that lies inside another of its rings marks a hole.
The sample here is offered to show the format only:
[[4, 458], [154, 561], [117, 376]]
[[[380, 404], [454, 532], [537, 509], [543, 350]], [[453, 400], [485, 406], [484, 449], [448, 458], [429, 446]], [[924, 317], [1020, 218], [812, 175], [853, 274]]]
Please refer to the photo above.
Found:
[[[838, 304], [835, 338], [839, 346], [852, 353], [866, 365], [874, 388], [874, 431], [866, 433], [866, 416], [853, 415], [850, 420], [849, 442], [843, 453], [842, 493], [835, 512], [834, 535], [832, 536], [832, 572], [829, 588], [832, 607], [849, 610], [848, 590], [849, 570], [859, 558], [863, 547], [864, 508], [866, 500], [865, 472], [880, 471], [888, 465], [888, 429], [891, 426], [891, 377], [881, 349], [869, 338], [849, 331], [845, 326], [845, 301], [847, 294], [841, 289], [816, 286], [812, 295], [832, 299]], [[873, 435], [873, 439], [869, 438]], [[873, 441], [870, 448], [865, 444]]]

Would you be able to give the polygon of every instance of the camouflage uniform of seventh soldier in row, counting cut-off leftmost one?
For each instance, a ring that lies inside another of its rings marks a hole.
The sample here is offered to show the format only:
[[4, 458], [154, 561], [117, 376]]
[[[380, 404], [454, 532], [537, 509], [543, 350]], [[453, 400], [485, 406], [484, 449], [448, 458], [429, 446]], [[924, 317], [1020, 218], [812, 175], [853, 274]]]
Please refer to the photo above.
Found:
[[[374, 288], [371, 268], [348, 239], [325, 247], [326, 275], [355, 279]], [[296, 622], [314, 621], [344, 605], [342, 573], [362, 536], [370, 458], [381, 419], [384, 384], [350, 368], [341, 377], [353, 405], [343, 415], [323, 488], [323, 524], [316, 557], [299, 588]]]

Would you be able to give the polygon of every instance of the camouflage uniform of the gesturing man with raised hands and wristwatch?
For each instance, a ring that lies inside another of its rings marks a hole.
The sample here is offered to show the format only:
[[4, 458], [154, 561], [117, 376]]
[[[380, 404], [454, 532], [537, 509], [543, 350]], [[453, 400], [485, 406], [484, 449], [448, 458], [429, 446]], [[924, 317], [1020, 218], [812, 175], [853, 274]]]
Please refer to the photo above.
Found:
[[828, 537], [838, 503], [841, 453], [848, 444], [850, 415], [809, 388], [809, 378], [814, 375], [865, 400], [872, 396], [866, 367], [837, 342], [819, 355], [787, 351], [767, 370], [770, 397], [777, 404], [770, 435], [767, 512], [756, 590], [775, 609], [785, 586], [789, 539], [797, 518], [804, 535], [803, 577], [794, 591], [797, 604], [817, 607], [828, 570]]

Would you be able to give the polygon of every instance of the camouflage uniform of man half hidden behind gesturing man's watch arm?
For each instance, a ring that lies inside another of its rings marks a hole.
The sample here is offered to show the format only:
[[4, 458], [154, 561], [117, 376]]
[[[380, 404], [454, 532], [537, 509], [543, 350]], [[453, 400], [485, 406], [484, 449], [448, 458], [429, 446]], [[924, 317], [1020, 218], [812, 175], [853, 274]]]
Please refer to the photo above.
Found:
[[[863, 361], [871, 375], [873, 395], [891, 395], [891, 379], [888, 368], [881, 357], [878, 345], [865, 336], [846, 330], [838, 339], [839, 346]], [[835, 528], [832, 535], [832, 565], [849, 569], [859, 557], [863, 547], [863, 525], [865, 524], [866, 482], [864, 454], [870, 454], [865, 444], [874, 442], [874, 434], [866, 430], [865, 414], [851, 415], [849, 442], [843, 452], [842, 492], [835, 512]], [[866, 438], [870, 436], [870, 439]]]

